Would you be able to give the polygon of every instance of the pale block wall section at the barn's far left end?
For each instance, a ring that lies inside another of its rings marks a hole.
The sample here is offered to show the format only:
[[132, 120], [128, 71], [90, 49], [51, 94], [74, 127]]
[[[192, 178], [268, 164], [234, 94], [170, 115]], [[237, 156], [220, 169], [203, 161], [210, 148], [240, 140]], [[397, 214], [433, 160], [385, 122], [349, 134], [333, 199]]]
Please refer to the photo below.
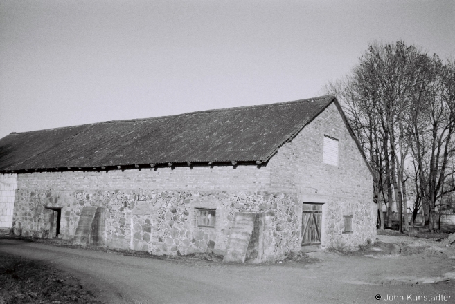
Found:
[[17, 174], [0, 174], [0, 228], [12, 227]]

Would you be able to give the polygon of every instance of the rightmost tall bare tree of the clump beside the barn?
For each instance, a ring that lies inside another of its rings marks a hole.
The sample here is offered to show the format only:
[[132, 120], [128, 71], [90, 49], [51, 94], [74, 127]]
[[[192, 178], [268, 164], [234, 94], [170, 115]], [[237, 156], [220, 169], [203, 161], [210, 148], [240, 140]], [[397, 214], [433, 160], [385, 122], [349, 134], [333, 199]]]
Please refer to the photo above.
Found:
[[447, 178], [454, 174], [448, 166], [454, 157], [455, 133], [455, 66], [431, 59], [425, 89], [413, 99], [411, 149], [418, 169], [418, 189], [424, 203], [425, 224], [436, 229], [436, 202], [445, 193]]

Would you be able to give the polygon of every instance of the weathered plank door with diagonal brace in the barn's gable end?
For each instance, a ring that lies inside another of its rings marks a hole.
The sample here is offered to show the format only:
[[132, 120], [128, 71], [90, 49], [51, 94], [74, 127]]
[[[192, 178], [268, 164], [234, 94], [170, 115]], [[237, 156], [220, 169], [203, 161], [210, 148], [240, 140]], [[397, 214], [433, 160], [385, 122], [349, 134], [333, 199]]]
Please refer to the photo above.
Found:
[[303, 203], [302, 208], [302, 249], [318, 251], [321, 249], [322, 205]]

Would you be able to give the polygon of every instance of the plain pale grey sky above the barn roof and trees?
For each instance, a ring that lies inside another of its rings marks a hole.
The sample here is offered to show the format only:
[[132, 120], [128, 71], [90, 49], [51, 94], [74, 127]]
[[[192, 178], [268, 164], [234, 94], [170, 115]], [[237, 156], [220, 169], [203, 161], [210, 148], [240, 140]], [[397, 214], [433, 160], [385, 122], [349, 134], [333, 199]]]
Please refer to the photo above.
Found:
[[321, 95], [373, 41], [455, 57], [455, 1], [0, 0], [0, 137]]

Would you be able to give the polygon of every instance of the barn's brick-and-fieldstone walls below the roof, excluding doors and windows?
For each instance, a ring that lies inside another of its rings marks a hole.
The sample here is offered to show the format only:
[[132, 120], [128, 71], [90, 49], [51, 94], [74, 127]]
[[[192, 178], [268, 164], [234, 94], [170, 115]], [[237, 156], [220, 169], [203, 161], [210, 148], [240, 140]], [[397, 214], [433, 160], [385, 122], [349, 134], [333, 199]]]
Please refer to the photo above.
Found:
[[[338, 140], [336, 163], [323, 162], [327, 136]], [[301, 249], [302, 204], [307, 202], [323, 203], [322, 249], [354, 249], [375, 240], [373, 178], [335, 104], [259, 166], [23, 173], [17, 182], [15, 175], [1, 178], [0, 199], [15, 200], [14, 227], [24, 236], [44, 236], [44, 206], [62, 208], [59, 237], [67, 239], [75, 236], [84, 207], [102, 207], [107, 247], [225, 255], [235, 214], [259, 213], [264, 228], [254, 243], [260, 252], [248, 250], [256, 261], [273, 261]], [[0, 206], [8, 216], [10, 205]], [[197, 226], [197, 208], [216, 209], [215, 227]], [[343, 216], [353, 216], [350, 234], [343, 233]]]

